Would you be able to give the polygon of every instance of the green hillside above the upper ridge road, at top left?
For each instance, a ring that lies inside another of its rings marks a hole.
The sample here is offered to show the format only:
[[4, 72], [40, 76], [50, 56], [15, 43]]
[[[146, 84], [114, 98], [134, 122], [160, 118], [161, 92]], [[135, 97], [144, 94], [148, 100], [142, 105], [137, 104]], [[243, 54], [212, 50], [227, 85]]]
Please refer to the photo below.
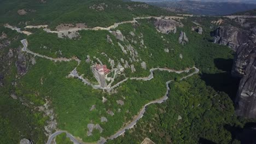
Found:
[[[88, 27], [106, 27], [113, 25], [114, 22], [132, 20], [136, 16], [170, 15], [165, 10], [151, 5], [144, 7], [139, 5], [142, 3], [121, 0], [46, 0], [43, 2], [45, 3], [31, 0], [22, 2], [3, 0], [0, 2], [0, 23], [22, 27], [25, 26], [25, 22], [28, 22], [27, 25], [50, 25], [53, 29], [61, 23], [85, 23]], [[103, 9], [97, 9], [101, 4]], [[93, 6], [95, 9], [90, 8]], [[24, 9], [27, 13], [19, 15], [20, 9]]]

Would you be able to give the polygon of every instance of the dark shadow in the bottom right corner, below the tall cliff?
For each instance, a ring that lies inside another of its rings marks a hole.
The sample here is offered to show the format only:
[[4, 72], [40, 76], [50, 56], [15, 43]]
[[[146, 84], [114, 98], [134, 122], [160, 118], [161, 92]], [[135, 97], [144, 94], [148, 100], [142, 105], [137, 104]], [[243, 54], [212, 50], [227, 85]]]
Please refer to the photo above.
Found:
[[243, 128], [225, 125], [225, 129], [230, 131], [232, 140], [237, 139], [241, 144], [256, 143], [256, 123], [246, 123]]

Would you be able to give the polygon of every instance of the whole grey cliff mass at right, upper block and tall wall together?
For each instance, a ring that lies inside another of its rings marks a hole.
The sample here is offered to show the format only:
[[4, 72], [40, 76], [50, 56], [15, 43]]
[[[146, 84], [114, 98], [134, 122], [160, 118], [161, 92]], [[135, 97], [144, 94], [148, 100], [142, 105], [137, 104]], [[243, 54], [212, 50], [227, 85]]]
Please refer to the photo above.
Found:
[[233, 26], [219, 27], [211, 33], [214, 43], [228, 45], [236, 51], [232, 75], [241, 77], [235, 100], [238, 116], [256, 118], [256, 36]]

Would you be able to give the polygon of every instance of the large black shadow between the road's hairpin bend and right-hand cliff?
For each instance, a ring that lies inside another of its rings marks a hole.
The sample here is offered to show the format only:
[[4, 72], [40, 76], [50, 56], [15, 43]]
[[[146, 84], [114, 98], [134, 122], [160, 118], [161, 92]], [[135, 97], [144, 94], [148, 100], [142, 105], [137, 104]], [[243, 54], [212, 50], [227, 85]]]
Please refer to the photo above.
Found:
[[201, 79], [206, 82], [207, 86], [213, 87], [216, 91], [222, 91], [229, 95], [234, 102], [240, 78], [231, 76], [232, 59], [214, 59], [214, 64], [223, 72], [216, 74], [202, 73]]

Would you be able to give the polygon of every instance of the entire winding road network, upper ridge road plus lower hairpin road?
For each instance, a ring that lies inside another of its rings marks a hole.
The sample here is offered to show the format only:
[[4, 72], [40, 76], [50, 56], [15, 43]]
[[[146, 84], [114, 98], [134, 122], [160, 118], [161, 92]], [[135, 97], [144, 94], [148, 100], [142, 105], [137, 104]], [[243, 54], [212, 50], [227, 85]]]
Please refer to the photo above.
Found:
[[[220, 16], [220, 17], [229, 17], [229, 18], [244, 17], [244, 18], [247, 18], [247, 17], [256, 17], [256, 16]], [[107, 31], [110, 31], [110, 29], [117, 28], [119, 25], [124, 24], [124, 23], [135, 23], [135, 22], [137, 22], [138, 19], [150, 19], [150, 18], [154, 18], [154, 19], [163, 19], [163, 18], [164, 18], [164, 19], [185, 19], [184, 17], [178, 17], [178, 16], [135, 17], [135, 18], [133, 18], [132, 21], [123, 21], [123, 22], [114, 23], [114, 25], [109, 26], [109, 27], [69, 28], [69, 29], [63, 30], [63, 31], [51, 31], [50, 29], [47, 28], [47, 27], [48, 27], [47, 25], [42, 25], [42, 26], [26, 26], [25, 28], [41, 28], [41, 27], [43, 27], [43, 28], [44, 28], [44, 31], [46, 31], [46, 32], [48, 32], [48, 33], [62, 33], [62, 32], [72, 32], [72, 31], [80, 31], [80, 30], [107, 30]], [[32, 34], [32, 33], [27, 32], [27, 31], [21, 31], [20, 28], [17, 28], [17, 27], [14, 27], [14, 26], [10, 26], [10, 25], [8, 25], [8, 24], [7, 24], [7, 25], [4, 25], [4, 26], [7, 27], [7, 28], [10, 28], [10, 29], [13, 29], [13, 30], [15, 30], [15, 31], [17, 31], [17, 32], [19, 32], [19, 33], [24, 33], [24, 34], [26, 34], [26, 35]], [[49, 59], [49, 60], [55, 61], [55, 62], [56, 62], [56, 61], [66, 61], [66, 62], [68, 62], [68, 61], [75, 60], [75, 61], [78, 62], [78, 64], [80, 63], [80, 59], [78, 59], [78, 58], [51, 58], [51, 57], [48, 57], [48, 56], [40, 55], [40, 54], [38, 54], [38, 53], [34, 53], [34, 52], [32, 52], [32, 51], [30, 51], [30, 50], [27, 49], [28, 43], [27, 43], [27, 40], [26, 40], [26, 39], [21, 40], [21, 43], [24, 45], [24, 47], [22, 48], [22, 51], [25, 51], [25, 52], [27, 52], [27, 53], [30, 53], [30, 54], [32, 54], [32, 55], [34, 55], [34, 56], [46, 58], [46, 59]], [[191, 74], [189, 74], [189, 75], [187, 75], [187, 76], [184, 76], [184, 77], [182, 77], [180, 80], [187, 79], [189, 76], [192, 76], [192, 75], [194, 75], [194, 74], [199, 73], [199, 69], [197, 69], [196, 67], [193, 67], [193, 68], [195, 69], [194, 73], [191, 73]], [[190, 69], [193, 69], [193, 68], [190, 68]], [[154, 76], [153, 76], [153, 71], [154, 71], [154, 70], [164, 70], [164, 71], [168, 71], [168, 72], [170, 72], [170, 73], [173, 72], [173, 73], [181, 74], [181, 73], [183, 73], [183, 72], [189, 72], [190, 69], [188, 69], [188, 70], [171, 70], [171, 69], [165, 69], [165, 68], [153, 68], [153, 69], [150, 69], [150, 70], [149, 70], [149, 71], [150, 71], [150, 75], [149, 75], [148, 77], [130, 77], [130, 78], [126, 78], [125, 80], [118, 82], [118, 83], [115, 84], [114, 86], [112, 86], [112, 87], [106, 87], [106, 88], [102, 88], [102, 87], [100, 87], [100, 86], [98, 86], [98, 85], [92, 85], [92, 83], [86, 81], [85, 79], [83, 79], [82, 76], [79, 76], [79, 75], [77, 74], [76, 68], [75, 68], [75, 69], [71, 72], [71, 74], [69, 74], [69, 75], [74, 76], [74, 77], [78, 77], [78, 79], [82, 80], [85, 84], [90, 85], [92, 88], [112, 90], [113, 88], [118, 87], [119, 85], [121, 85], [121, 83], [123, 83], [123, 82], [125, 82], [125, 81], [127, 81], [127, 80], [129, 80], [129, 79], [130, 79], [130, 80], [144, 80], [144, 81], [151, 80], [151, 79], [154, 78]], [[149, 103], [147, 103], [146, 105], [144, 105], [144, 106], [142, 107], [141, 111], [139, 111], [138, 115], [132, 120], [132, 122], [130, 122], [128, 125], [126, 125], [126, 127], [121, 128], [121, 129], [120, 129], [119, 131], [117, 131], [117, 133], [115, 133], [114, 135], [109, 136], [109, 137], [107, 138], [107, 140], [113, 140], [113, 139], [117, 138], [118, 136], [120, 136], [121, 134], [124, 134], [127, 129], [132, 128], [132, 127], [137, 123], [137, 121], [138, 121], [140, 118], [143, 117], [144, 112], [146, 111], [148, 105], [150, 105], [150, 104], [155, 104], [155, 103], [163, 103], [165, 100], [167, 100], [167, 99], [168, 99], [168, 95], [170, 94], [170, 87], [169, 87], [168, 85], [169, 85], [169, 83], [172, 82], [172, 81], [173, 81], [173, 80], [170, 80], [170, 81], [167, 81], [167, 82], [166, 82], [166, 88], [167, 88], [167, 90], [166, 90], [166, 94], [165, 94], [162, 98], [156, 99], [156, 100], [154, 100], [154, 101], [150, 101]], [[56, 131], [54, 134], [51, 134], [51, 135], [49, 136], [49, 139], [48, 139], [48, 141], [47, 141], [47, 144], [50, 144], [50, 143], [53, 141], [53, 139], [54, 139], [57, 135], [62, 134], [62, 133], [66, 133], [67, 137], [69, 137], [70, 140], [73, 141], [75, 144], [79, 144], [79, 143], [80, 143], [77, 139], [75, 139], [75, 137], [74, 137], [73, 135], [69, 134], [67, 131]], [[103, 142], [103, 143], [104, 143], [104, 142]]]

